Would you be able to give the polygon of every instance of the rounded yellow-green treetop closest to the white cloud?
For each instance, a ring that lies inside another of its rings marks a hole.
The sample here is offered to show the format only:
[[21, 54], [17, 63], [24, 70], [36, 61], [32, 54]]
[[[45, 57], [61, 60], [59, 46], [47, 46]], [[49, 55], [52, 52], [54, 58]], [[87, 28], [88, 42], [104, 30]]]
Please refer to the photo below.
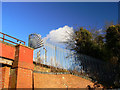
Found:
[[[76, 47], [74, 48], [77, 53], [83, 53], [87, 54], [89, 53], [89, 48], [92, 45], [91, 39], [92, 35], [91, 33], [83, 28], [80, 28], [79, 31], [75, 32], [75, 45]], [[88, 48], [89, 47], [89, 48]]]

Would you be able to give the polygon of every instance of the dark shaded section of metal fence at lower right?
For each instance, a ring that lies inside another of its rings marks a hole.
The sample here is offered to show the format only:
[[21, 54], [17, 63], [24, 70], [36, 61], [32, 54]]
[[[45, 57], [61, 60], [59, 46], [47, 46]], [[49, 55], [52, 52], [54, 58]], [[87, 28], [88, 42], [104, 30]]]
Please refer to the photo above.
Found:
[[87, 55], [78, 55], [77, 60], [89, 78], [105, 87], [120, 87], [120, 66]]

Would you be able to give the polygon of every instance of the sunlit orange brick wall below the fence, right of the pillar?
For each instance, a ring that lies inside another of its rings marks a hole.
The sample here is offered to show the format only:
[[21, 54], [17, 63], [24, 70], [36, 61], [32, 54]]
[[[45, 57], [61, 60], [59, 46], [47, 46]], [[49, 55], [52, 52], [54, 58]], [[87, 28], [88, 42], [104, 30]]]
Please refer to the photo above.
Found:
[[34, 88], [86, 88], [93, 86], [90, 80], [71, 74], [40, 74], [34, 73]]

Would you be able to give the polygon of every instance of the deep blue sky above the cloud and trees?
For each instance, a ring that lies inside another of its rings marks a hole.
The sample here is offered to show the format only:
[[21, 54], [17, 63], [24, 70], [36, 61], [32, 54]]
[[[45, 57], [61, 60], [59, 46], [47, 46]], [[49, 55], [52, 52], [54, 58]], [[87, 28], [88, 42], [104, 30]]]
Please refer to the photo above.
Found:
[[[46, 37], [51, 30], [91, 26], [118, 20], [117, 2], [3, 2], [2, 32], [27, 43], [31, 33]], [[26, 44], [27, 45], [27, 44]]]

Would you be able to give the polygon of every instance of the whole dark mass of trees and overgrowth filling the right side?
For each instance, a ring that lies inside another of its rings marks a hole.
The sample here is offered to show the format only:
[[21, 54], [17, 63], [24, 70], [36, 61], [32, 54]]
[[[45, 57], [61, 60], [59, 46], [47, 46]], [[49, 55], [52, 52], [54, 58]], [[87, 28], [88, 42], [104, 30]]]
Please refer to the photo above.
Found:
[[[111, 25], [100, 33], [80, 28], [74, 31], [66, 44], [68, 49], [75, 52], [76, 60], [82, 63], [89, 77], [106, 88], [120, 88], [120, 25]], [[95, 63], [89, 65], [80, 59], [80, 54], [96, 58]], [[95, 70], [94, 65], [99, 70]]]

